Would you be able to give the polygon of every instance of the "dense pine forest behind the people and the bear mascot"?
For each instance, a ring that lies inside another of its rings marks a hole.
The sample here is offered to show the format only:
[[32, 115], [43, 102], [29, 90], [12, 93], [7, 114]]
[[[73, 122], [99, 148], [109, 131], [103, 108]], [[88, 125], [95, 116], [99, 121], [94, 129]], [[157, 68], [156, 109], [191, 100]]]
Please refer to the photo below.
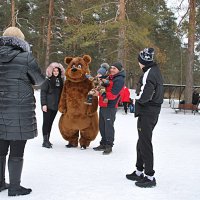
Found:
[[[197, 0], [194, 85], [200, 85], [199, 8]], [[178, 9], [181, 7], [174, 11]], [[183, 38], [187, 37], [188, 17], [186, 12], [179, 24], [175, 14], [167, 0], [1, 0], [0, 34], [13, 23], [19, 27], [43, 72], [50, 62], [64, 65], [65, 56], [90, 55], [93, 75], [101, 63], [121, 61], [129, 88], [136, 87], [141, 74], [138, 52], [153, 47], [164, 83], [182, 85], [186, 80], [188, 44]]]

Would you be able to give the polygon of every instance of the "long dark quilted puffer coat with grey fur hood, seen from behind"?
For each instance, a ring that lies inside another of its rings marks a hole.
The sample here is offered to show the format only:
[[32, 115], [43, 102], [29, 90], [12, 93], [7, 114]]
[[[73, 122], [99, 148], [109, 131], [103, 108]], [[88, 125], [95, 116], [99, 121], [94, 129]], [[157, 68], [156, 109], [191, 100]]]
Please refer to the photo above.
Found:
[[32, 85], [41, 85], [44, 80], [27, 42], [0, 37], [0, 139], [37, 136]]

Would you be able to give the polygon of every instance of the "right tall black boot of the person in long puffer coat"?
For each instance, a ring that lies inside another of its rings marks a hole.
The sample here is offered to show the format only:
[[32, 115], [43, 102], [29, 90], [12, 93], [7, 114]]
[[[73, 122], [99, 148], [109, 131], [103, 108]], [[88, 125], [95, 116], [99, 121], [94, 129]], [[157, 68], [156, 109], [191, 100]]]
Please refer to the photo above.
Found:
[[23, 167], [22, 157], [9, 157], [8, 171], [10, 177], [10, 186], [8, 188], [8, 196], [27, 195], [32, 192], [31, 189], [24, 188], [20, 185], [22, 167]]

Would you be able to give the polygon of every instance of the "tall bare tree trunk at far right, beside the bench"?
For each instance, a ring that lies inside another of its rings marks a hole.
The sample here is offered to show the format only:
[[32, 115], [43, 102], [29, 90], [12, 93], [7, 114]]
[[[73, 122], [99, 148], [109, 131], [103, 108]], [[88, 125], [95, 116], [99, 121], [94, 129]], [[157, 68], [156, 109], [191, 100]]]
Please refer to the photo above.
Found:
[[196, 25], [196, 0], [189, 1], [189, 27], [188, 27], [188, 59], [186, 66], [186, 87], [185, 102], [192, 102], [193, 90], [193, 66], [194, 66], [194, 43], [195, 43], [195, 25]]

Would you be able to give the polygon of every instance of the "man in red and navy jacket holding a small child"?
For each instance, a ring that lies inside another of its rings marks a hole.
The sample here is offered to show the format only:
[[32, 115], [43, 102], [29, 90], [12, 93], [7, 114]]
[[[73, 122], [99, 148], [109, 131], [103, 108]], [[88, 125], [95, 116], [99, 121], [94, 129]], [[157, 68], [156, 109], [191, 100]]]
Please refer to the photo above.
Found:
[[[103, 151], [103, 155], [110, 154], [114, 145], [114, 122], [120, 92], [124, 87], [125, 79], [124, 68], [120, 62], [111, 65], [108, 79], [109, 85], [106, 87], [106, 98], [108, 102], [104, 102], [102, 95], [99, 96], [99, 130], [101, 141], [99, 146], [93, 148], [95, 151]], [[98, 93], [97, 90], [96, 93]]]

